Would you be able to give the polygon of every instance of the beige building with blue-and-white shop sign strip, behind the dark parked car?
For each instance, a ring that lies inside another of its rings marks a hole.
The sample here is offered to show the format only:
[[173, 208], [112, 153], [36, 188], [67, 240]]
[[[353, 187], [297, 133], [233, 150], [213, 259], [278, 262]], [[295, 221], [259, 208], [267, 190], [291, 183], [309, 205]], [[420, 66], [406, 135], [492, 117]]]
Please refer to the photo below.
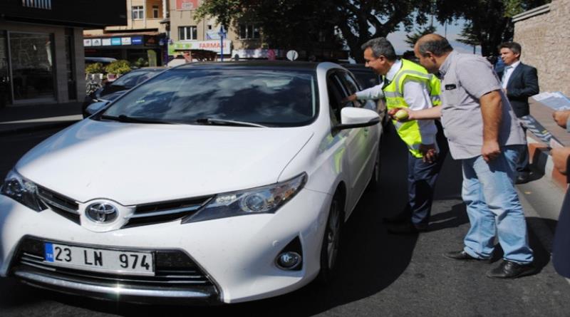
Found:
[[111, 57], [131, 63], [142, 58], [147, 65], [163, 65], [167, 57], [167, 7], [167, 0], [126, 0], [125, 25], [83, 31], [86, 56]]

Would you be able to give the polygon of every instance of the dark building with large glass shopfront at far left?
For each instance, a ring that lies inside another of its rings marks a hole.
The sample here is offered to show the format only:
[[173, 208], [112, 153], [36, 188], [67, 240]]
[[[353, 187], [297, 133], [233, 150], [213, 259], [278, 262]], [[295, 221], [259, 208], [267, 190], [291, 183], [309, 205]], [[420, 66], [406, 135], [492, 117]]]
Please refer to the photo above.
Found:
[[0, 1], [0, 107], [85, 97], [83, 28], [126, 24], [122, 1]]

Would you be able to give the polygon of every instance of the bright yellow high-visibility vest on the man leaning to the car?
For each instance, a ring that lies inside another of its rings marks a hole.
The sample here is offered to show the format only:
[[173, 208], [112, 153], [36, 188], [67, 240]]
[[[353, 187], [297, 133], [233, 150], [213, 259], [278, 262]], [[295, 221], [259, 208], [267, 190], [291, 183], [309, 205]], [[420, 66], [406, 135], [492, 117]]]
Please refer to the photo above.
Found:
[[[404, 82], [406, 80], [415, 80], [425, 83], [430, 90], [430, 98], [432, 105], [441, 105], [440, 89], [441, 83], [437, 77], [427, 73], [425, 68], [411, 61], [402, 59], [402, 67], [395, 74], [394, 79], [382, 90], [386, 99], [386, 108], [409, 108], [408, 103], [404, 99]], [[400, 138], [408, 145], [408, 149], [414, 157], [422, 157], [420, 145], [422, 144], [422, 135], [420, 134], [420, 125], [418, 121], [410, 120], [400, 123], [392, 120], [396, 131]]]

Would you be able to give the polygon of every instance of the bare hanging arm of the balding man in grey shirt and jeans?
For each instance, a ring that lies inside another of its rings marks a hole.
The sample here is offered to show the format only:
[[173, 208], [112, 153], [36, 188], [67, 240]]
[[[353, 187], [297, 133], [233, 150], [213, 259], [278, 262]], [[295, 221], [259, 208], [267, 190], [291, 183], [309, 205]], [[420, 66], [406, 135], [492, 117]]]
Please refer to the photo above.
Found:
[[479, 98], [483, 117], [483, 146], [481, 155], [486, 162], [501, 153], [499, 128], [502, 121], [502, 100], [498, 90], [486, 93]]

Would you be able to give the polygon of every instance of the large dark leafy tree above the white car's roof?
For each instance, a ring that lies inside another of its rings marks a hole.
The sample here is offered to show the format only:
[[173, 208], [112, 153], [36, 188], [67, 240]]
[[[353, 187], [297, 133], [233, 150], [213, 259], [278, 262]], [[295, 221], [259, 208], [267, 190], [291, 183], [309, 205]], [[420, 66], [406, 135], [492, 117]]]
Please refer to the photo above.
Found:
[[204, 0], [197, 16], [214, 16], [224, 26], [256, 21], [271, 47], [296, 43], [310, 49], [322, 42], [340, 45], [342, 39], [351, 56], [363, 62], [363, 43], [400, 26], [410, 30], [414, 23], [425, 24], [431, 9], [432, 1], [421, 0]]

